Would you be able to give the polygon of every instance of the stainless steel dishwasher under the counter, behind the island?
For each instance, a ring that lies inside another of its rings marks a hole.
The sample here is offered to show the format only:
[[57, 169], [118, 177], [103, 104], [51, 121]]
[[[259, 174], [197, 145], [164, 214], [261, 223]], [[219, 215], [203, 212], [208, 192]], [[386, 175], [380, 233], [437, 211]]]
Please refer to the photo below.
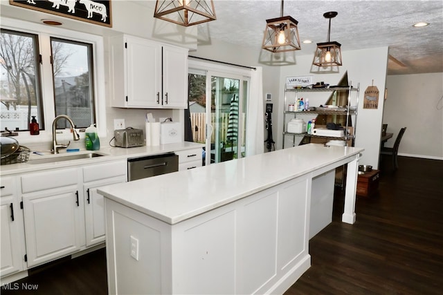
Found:
[[163, 153], [127, 160], [127, 180], [138, 180], [179, 171], [179, 155]]

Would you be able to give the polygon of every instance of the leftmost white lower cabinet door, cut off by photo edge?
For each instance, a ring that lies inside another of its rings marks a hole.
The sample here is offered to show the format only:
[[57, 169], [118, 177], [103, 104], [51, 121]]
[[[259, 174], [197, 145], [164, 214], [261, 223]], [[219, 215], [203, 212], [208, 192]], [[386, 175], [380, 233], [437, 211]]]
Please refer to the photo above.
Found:
[[0, 208], [0, 276], [6, 276], [23, 269], [19, 238], [19, 234], [23, 233], [23, 225], [18, 220], [19, 206], [15, 196], [2, 196]]

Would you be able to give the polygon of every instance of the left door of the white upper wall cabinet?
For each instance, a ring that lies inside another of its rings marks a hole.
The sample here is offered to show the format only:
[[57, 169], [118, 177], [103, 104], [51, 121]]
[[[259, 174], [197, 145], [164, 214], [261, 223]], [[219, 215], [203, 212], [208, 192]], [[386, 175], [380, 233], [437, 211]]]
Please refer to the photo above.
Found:
[[127, 38], [127, 106], [161, 107], [161, 46]]

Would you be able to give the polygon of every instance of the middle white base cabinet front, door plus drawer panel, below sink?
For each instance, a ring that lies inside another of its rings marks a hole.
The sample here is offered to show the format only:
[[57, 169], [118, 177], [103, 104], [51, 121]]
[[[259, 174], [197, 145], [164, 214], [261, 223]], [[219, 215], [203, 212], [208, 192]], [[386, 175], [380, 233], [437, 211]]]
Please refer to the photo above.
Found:
[[79, 170], [21, 176], [28, 267], [79, 251], [84, 245]]

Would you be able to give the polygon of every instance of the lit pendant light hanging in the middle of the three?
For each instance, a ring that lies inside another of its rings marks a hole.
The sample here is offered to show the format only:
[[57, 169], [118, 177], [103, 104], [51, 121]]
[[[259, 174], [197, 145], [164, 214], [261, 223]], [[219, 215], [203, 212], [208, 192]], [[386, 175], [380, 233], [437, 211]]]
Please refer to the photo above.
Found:
[[280, 8], [280, 17], [266, 19], [262, 48], [271, 53], [300, 50], [298, 37], [298, 21], [292, 17], [283, 17], [283, 0]]

